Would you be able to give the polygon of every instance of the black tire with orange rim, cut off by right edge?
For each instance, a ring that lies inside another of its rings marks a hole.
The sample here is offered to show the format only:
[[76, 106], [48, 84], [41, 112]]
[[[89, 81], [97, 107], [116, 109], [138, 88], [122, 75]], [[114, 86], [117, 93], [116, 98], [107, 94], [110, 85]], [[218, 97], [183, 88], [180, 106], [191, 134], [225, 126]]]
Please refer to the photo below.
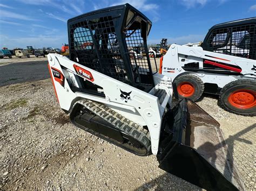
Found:
[[220, 91], [218, 104], [234, 114], [256, 116], [256, 81], [236, 80], [226, 84]]

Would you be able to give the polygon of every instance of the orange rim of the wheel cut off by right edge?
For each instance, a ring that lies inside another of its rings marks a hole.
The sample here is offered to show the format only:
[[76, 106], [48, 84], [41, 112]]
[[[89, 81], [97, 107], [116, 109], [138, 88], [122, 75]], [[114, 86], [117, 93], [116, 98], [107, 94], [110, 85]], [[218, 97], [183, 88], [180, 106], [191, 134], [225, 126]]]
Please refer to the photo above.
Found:
[[234, 91], [228, 97], [228, 101], [234, 107], [240, 109], [253, 108], [256, 105], [256, 92], [248, 89]]

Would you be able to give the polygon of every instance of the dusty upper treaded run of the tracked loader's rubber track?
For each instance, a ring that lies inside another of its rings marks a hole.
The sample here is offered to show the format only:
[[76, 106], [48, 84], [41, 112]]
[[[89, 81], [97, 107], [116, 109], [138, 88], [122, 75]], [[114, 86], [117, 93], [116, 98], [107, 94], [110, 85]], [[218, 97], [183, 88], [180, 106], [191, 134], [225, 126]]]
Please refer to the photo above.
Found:
[[115, 128], [138, 140], [138, 142], [145, 146], [147, 153], [150, 152], [150, 132], [144, 129], [143, 126], [130, 121], [118, 114], [118, 112], [106, 107], [104, 104], [86, 99], [79, 100], [77, 103], [83, 105], [86, 109], [103, 118], [105, 121], [111, 123]]

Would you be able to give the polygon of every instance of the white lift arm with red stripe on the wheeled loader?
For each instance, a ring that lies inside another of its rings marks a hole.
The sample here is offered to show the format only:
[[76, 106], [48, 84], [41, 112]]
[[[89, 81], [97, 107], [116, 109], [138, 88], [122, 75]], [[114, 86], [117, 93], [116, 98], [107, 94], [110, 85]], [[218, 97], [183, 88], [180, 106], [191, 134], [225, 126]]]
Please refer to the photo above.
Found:
[[[163, 68], [171, 67], [183, 70], [187, 63], [198, 62], [199, 68], [203, 68], [204, 63], [212, 66], [218, 65], [220, 68], [237, 72], [241, 75], [256, 75], [253, 66], [256, 61], [252, 59], [240, 58], [227, 54], [204, 51], [201, 47], [189, 47], [172, 44], [164, 56]], [[178, 72], [177, 72], [178, 73]]]

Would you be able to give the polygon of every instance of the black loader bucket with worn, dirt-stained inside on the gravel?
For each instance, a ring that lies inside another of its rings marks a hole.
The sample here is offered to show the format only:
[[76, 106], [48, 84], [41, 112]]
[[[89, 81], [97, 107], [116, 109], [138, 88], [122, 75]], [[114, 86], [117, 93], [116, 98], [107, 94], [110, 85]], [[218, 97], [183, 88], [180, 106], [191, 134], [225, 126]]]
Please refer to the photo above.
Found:
[[207, 190], [244, 190], [219, 126], [196, 103], [181, 100], [163, 119], [159, 167]]

